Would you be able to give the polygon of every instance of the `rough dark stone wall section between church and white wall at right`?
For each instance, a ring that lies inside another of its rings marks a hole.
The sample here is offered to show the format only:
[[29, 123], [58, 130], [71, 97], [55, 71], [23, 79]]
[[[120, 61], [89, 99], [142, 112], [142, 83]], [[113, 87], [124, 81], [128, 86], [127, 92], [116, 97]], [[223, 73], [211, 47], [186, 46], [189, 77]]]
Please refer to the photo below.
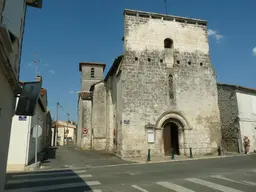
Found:
[[238, 152], [238, 105], [236, 92], [231, 87], [218, 85], [222, 144], [226, 151]]

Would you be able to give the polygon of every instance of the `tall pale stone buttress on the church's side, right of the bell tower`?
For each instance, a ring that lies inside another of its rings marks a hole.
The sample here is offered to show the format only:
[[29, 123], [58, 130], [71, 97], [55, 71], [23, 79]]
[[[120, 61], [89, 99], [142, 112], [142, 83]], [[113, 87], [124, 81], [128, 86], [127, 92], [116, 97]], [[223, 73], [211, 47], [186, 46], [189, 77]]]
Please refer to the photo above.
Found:
[[104, 83], [94, 86], [92, 101], [92, 131], [93, 148], [103, 150], [106, 148], [106, 89]]

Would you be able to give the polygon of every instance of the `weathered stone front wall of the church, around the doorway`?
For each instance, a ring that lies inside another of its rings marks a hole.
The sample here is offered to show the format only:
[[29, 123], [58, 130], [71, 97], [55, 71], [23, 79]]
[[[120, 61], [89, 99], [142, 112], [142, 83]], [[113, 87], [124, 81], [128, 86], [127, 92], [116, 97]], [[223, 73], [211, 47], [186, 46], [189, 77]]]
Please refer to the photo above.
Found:
[[[164, 40], [173, 40], [174, 65], [165, 58]], [[122, 156], [163, 155], [161, 126], [155, 144], [147, 144], [145, 125], [160, 116], [179, 112], [188, 126], [182, 130], [181, 153], [216, 152], [220, 143], [220, 117], [215, 71], [209, 58], [207, 27], [161, 19], [125, 15], [122, 66]], [[174, 99], [168, 76], [174, 78]], [[168, 113], [167, 113], [168, 114]]]

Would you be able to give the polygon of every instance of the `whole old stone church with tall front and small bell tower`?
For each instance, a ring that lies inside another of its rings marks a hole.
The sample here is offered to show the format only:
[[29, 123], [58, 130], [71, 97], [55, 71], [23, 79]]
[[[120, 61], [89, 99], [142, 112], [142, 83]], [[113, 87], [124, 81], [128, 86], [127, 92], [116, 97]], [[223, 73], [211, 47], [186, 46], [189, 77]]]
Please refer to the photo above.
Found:
[[77, 145], [122, 157], [207, 155], [221, 143], [207, 21], [124, 11], [123, 55], [80, 63]]

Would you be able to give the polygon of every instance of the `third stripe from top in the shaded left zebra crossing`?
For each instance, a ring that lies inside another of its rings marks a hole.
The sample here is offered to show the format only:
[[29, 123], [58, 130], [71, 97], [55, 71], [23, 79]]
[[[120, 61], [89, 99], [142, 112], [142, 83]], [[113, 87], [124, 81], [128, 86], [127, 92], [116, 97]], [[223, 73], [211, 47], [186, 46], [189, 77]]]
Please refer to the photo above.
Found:
[[88, 187], [88, 186], [95, 186], [100, 184], [101, 183], [99, 181], [87, 181], [87, 182], [67, 183], [67, 184], [60, 184], [60, 185], [11, 189], [11, 190], [5, 190], [5, 192], [39, 192], [39, 191], [49, 191], [49, 190], [65, 189], [65, 188], [72, 188], [72, 187]]

